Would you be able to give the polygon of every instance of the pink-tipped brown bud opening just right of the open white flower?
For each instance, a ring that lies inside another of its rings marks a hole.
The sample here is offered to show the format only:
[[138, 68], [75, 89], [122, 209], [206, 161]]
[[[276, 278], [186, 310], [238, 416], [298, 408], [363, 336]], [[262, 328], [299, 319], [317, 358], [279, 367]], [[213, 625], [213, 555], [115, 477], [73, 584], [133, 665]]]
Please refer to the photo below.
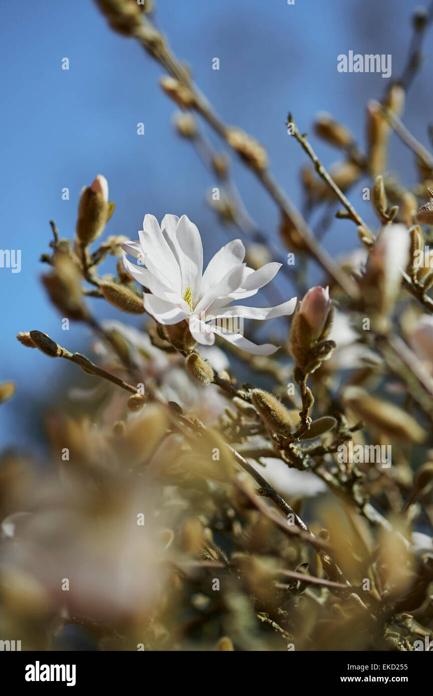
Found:
[[290, 330], [290, 353], [306, 373], [317, 370], [335, 348], [333, 341], [326, 341], [332, 317], [329, 288], [311, 287], [299, 304]]

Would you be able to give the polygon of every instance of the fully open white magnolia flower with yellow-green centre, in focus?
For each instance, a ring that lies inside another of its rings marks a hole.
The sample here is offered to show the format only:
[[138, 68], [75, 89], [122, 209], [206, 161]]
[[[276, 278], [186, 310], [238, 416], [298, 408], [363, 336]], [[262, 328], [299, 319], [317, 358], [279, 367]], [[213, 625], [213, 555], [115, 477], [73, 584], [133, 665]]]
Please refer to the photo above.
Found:
[[225, 324], [235, 317], [274, 319], [293, 313], [295, 297], [277, 307], [228, 307], [233, 300], [255, 295], [274, 278], [281, 264], [267, 263], [254, 271], [243, 262], [244, 245], [234, 239], [214, 255], [203, 273], [200, 232], [186, 215], [166, 215], [161, 228], [155, 216], [146, 215], [139, 241], [125, 242], [122, 248], [145, 266], [136, 266], [123, 257], [127, 271], [150, 290], [143, 296], [144, 308], [159, 324], [186, 320], [191, 335], [203, 345], [213, 345], [217, 333], [254, 355], [278, 350], [269, 343], [255, 345], [241, 333], [229, 331]]

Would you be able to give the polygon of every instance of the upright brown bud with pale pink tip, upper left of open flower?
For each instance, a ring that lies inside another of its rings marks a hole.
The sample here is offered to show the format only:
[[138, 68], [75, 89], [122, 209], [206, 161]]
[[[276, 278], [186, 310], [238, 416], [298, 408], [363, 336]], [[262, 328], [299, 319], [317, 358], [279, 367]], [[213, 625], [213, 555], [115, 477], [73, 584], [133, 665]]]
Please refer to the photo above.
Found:
[[81, 244], [91, 244], [104, 230], [112, 212], [108, 193], [107, 179], [102, 174], [81, 193], [77, 220], [77, 237]]

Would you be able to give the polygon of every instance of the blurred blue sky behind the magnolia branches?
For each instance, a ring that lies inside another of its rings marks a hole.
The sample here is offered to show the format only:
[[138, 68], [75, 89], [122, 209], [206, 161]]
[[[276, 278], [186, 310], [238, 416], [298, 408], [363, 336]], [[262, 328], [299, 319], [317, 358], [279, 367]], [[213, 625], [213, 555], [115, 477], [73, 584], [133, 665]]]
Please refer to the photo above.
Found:
[[[391, 54], [397, 77], [407, 57], [415, 6], [407, 0], [295, 0], [292, 6], [286, 0], [159, 0], [156, 17], [223, 119], [265, 145], [271, 171], [301, 207], [299, 168], [306, 155], [286, 133], [288, 111], [302, 132], [310, 129], [317, 111], [329, 111], [364, 146], [365, 104], [381, 97], [386, 80], [380, 74], [341, 74], [337, 56], [350, 50]], [[39, 258], [52, 239], [49, 220], [56, 221], [61, 237], [72, 237], [81, 188], [100, 173], [116, 203], [107, 235], [136, 239], [145, 213], [158, 219], [185, 213], [200, 229], [207, 262], [228, 234], [239, 233], [223, 228], [207, 206], [206, 192], [217, 183], [173, 130], [173, 102], [158, 85], [161, 69], [136, 42], [113, 33], [92, 1], [45, 0], [24, 10], [5, 0], [0, 19], [0, 247], [22, 250], [20, 273], [0, 268], [0, 382], [17, 383], [15, 396], [1, 409], [0, 443], [35, 453], [43, 452], [42, 398], [56, 393], [64, 366], [25, 349], [15, 335], [39, 329], [72, 351], [84, 349], [90, 338], [88, 329], [72, 322], [68, 332], [61, 330], [61, 317], [40, 285], [47, 267]], [[425, 145], [433, 104], [429, 41], [431, 35], [403, 115]], [[220, 69], [212, 70], [216, 57]], [[63, 58], [69, 58], [69, 70], [62, 70]], [[310, 140], [324, 164], [338, 159], [314, 134]], [[395, 135], [390, 164], [403, 172], [403, 183], [414, 182], [413, 157]], [[234, 175], [250, 214], [278, 240], [274, 203], [241, 164], [235, 164]], [[357, 182], [350, 197], [376, 225], [370, 204], [361, 200], [366, 185]], [[69, 200], [62, 200], [64, 187]], [[354, 225], [333, 221], [324, 244], [334, 256], [358, 246]], [[282, 246], [281, 252], [286, 253]], [[317, 269], [315, 277], [320, 278]], [[287, 278], [276, 282], [290, 298]], [[100, 319], [130, 320], [107, 303], [93, 302]], [[263, 296], [262, 303], [267, 303]]]

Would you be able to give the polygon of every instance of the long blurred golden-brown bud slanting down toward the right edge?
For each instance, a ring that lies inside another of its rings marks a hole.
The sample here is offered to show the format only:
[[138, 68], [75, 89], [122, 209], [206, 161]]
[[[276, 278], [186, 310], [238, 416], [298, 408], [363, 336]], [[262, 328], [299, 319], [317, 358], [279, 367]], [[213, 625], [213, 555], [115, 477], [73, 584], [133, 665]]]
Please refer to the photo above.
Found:
[[397, 440], [421, 443], [426, 434], [418, 422], [406, 411], [382, 399], [370, 396], [361, 387], [349, 386], [343, 400], [358, 418], [381, 434]]

